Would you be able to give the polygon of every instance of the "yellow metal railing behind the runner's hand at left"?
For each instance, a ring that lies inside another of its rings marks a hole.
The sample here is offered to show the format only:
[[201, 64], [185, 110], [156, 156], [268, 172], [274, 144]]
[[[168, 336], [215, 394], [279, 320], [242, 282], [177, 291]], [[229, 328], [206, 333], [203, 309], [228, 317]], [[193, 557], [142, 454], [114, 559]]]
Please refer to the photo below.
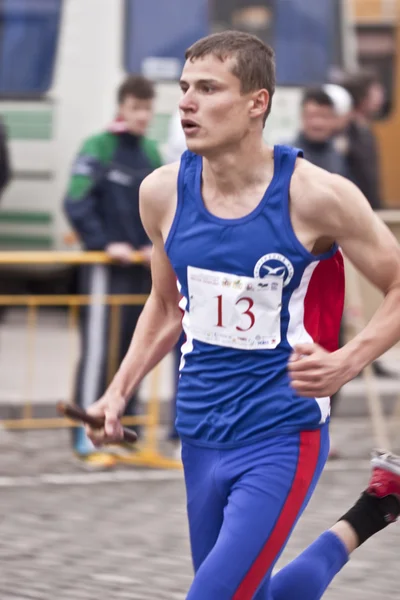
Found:
[[[139, 252], [132, 253], [132, 264], [143, 262]], [[112, 264], [104, 252], [0, 252], [0, 267], [2, 265], [83, 265], [83, 264]], [[122, 306], [143, 305], [147, 296], [135, 295], [105, 295], [99, 300], [110, 307], [110, 334], [109, 355], [107, 365], [107, 379], [111, 380], [118, 368], [118, 348], [120, 334], [120, 311]], [[23, 385], [24, 405], [22, 416], [18, 419], [4, 419], [0, 424], [5, 429], [55, 429], [76, 427], [77, 424], [66, 418], [46, 417], [39, 418], [33, 415], [33, 381], [35, 372], [35, 341], [38, 331], [38, 311], [43, 307], [66, 307], [68, 310], [69, 332], [69, 373], [72, 382], [75, 376], [76, 360], [74, 360], [74, 340], [78, 329], [79, 308], [93, 302], [90, 295], [1, 295], [0, 306], [26, 307], [26, 371]], [[64, 360], [64, 357], [62, 358]], [[159, 383], [160, 368], [156, 367], [150, 374], [150, 394], [146, 405], [146, 412], [134, 417], [124, 417], [122, 422], [126, 425], [141, 425], [143, 439], [137, 445], [137, 451], [132, 455], [124, 454], [123, 462], [152, 467], [180, 467], [180, 462], [162, 455], [159, 451], [158, 433], [160, 427], [160, 400]], [[71, 389], [72, 389], [71, 383]], [[54, 400], [54, 405], [56, 399]]]

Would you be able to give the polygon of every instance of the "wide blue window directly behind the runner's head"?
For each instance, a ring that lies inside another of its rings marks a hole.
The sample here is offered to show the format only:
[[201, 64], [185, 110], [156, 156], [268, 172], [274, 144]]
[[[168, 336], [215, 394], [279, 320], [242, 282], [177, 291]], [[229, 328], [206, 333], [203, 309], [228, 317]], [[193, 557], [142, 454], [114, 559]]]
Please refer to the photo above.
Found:
[[340, 66], [340, 12], [337, 0], [126, 0], [125, 67], [178, 79], [190, 44], [240, 29], [274, 47], [279, 84], [321, 83]]

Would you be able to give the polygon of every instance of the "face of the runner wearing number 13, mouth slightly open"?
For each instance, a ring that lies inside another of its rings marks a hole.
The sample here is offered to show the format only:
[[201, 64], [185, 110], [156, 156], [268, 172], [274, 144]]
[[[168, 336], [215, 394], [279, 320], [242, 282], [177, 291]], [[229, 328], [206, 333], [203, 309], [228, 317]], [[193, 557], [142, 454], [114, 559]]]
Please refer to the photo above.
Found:
[[254, 94], [241, 93], [234, 61], [208, 55], [183, 68], [179, 108], [186, 144], [196, 154], [231, 147], [252, 127]]

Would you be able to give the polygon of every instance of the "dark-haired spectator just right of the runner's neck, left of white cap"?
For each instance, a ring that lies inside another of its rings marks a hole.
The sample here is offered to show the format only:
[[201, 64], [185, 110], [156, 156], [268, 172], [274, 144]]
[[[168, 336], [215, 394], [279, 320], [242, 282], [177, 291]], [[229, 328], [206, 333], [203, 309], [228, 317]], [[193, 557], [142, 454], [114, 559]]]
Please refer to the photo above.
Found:
[[304, 152], [311, 163], [331, 173], [345, 175], [345, 160], [335, 148], [335, 105], [322, 88], [306, 89], [302, 99], [301, 131], [293, 145]]

